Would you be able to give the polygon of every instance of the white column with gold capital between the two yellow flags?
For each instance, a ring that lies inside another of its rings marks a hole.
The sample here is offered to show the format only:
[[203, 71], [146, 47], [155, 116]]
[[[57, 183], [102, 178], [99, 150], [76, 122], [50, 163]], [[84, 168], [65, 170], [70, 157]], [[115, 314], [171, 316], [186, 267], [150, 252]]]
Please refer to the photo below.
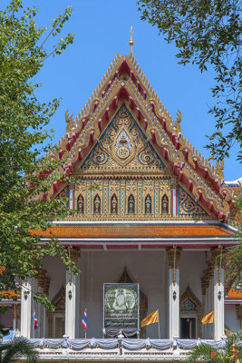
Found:
[[179, 337], [179, 258], [180, 249], [171, 248], [168, 250], [170, 339]]

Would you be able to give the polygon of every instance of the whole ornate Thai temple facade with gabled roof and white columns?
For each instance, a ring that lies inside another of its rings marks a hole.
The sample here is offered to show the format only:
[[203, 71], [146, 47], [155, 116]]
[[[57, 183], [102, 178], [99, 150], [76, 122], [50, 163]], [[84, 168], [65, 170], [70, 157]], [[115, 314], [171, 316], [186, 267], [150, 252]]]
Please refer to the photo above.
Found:
[[[66, 218], [35, 232], [43, 243], [51, 233], [58, 237], [81, 274], [65, 270], [60, 257], [46, 258], [9, 313], [14, 329], [34, 338], [43, 354], [92, 348], [86, 354], [97, 351], [98, 358], [108, 344], [121, 355], [121, 339], [129, 350], [131, 338], [146, 342], [142, 349], [150, 338], [153, 351], [168, 349], [171, 355], [176, 344], [191, 348], [186, 339], [193, 346], [199, 339], [222, 344], [242, 319], [241, 290], [225, 281], [221, 257], [237, 244], [236, 230], [227, 224], [234, 191], [224, 182], [223, 165], [214, 167], [185, 138], [181, 114], [171, 118], [132, 52], [116, 55], [82, 111], [75, 119], [66, 112], [65, 121], [55, 156], [65, 159], [62, 172], [73, 175], [72, 182], [54, 182], [43, 198], [63, 199]], [[133, 336], [108, 334], [104, 283], [139, 283], [140, 321], [158, 309], [160, 336], [158, 324]], [[54, 312], [34, 302], [37, 291], [52, 301]], [[214, 323], [202, 325], [211, 311]]]

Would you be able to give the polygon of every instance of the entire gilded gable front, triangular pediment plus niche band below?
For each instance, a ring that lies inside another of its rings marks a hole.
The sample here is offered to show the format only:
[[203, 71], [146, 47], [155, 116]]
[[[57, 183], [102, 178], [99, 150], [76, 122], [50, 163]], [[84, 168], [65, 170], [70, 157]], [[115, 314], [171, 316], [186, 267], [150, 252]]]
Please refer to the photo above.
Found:
[[[128, 150], [127, 153], [124, 148]], [[126, 103], [113, 115], [111, 123], [100, 137], [100, 142], [92, 149], [88, 158], [77, 165], [74, 174], [82, 181], [75, 185], [74, 205], [79, 211], [76, 215], [67, 217], [68, 219], [136, 221], [144, 218], [171, 218], [171, 191], [174, 187], [178, 188], [178, 178], [147, 140], [128, 111]], [[179, 217], [172, 218], [211, 218], [189, 193], [181, 188], [179, 191]], [[65, 192], [68, 190], [63, 190], [59, 195], [64, 197]], [[117, 213], [111, 213], [113, 193], [117, 197]], [[128, 204], [131, 194], [134, 204], [132, 211]], [[145, 199], [148, 194], [151, 212], [146, 212]], [[83, 200], [78, 200], [80, 195]]]

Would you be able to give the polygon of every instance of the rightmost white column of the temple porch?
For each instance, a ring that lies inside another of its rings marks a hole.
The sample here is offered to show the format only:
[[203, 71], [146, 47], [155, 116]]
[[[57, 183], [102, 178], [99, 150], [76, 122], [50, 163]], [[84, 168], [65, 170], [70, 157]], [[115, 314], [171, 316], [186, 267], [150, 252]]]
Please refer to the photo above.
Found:
[[[219, 283], [220, 282], [220, 283]], [[225, 335], [224, 318], [224, 269], [214, 269], [214, 338]]]

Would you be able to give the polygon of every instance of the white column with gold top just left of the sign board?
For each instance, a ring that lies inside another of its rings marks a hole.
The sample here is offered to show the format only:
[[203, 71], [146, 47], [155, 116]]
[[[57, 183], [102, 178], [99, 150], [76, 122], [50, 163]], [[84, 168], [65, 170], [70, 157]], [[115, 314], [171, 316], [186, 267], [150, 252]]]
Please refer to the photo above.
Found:
[[76, 276], [72, 274], [72, 280], [69, 277], [69, 271], [66, 271], [65, 286], [65, 335], [69, 338], [75, 338], [75, 300], [76, 300]]

